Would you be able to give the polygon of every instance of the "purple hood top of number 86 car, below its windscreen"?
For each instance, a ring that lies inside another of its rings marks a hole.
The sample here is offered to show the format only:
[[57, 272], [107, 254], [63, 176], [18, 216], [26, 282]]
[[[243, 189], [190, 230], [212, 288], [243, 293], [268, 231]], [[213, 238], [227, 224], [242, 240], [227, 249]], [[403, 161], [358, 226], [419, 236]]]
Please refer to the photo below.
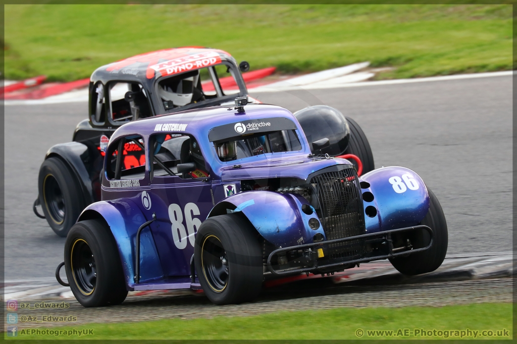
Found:
[[221, 171], [221, 181], [241, 179], [294, 177], [306, 180], [317, 170], [333, 165], [352, 165], [345, 159], [276, 159], [249, 164], [242, 164], [240, 168], [228, 167]]

